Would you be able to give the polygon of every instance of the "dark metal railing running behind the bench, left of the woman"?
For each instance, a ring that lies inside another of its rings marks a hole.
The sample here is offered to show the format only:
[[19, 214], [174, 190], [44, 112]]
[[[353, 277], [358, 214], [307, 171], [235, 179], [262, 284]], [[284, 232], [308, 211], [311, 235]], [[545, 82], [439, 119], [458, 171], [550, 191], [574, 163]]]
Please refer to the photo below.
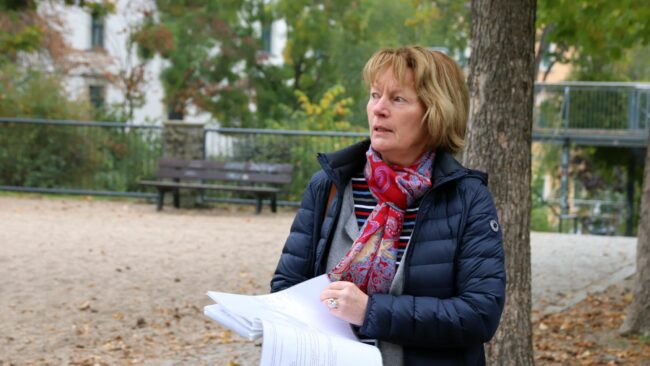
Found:
[[[0, 190], [155, 197], [138, 181], [155, 178], [163, 154], [162, 132], [162, 126], [119, 122], [0, 118]], [[295, 205], [319, 169], [318, 152], [340, 149], [365, 136], [208, 127], [204, 157], [293, 164], [293, 181], [279, 203]], [[206, 198], [249, 202], [215, 192]]]

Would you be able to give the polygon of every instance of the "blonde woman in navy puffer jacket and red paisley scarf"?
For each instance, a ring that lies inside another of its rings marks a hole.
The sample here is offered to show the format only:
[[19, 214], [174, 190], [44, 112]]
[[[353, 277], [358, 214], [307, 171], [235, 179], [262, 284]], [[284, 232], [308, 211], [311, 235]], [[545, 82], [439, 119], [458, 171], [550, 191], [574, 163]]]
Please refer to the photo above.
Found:
[[505, 269], [487, 176], [452, 157], [462, 71], [414, 46], [380, 50], [363, 76], [370, 141], [318, 156], [272, 291], [327, 273], [321, 301], [377, 340], [385, 365], [485, 364]]

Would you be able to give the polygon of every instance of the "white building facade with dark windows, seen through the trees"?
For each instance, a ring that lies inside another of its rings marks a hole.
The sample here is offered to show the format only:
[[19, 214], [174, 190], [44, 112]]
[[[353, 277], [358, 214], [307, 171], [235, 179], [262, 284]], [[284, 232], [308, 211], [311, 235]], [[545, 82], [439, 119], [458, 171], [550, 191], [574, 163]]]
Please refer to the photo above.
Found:
[[[66, 90], [73, 98], [86, 99], [97, 108], [121, 106], [122, 111], [131, 111], [127, 113], [129, 123], [161, 123], [170, 118], [160, 80], [166, 62], [158, 55], [146, 62], [140, 60], [136, 46], [129, 42], [145, 14], [155, 16], [155, 2], [116, 0], [113, 4], [115, 11], [104, 16], [81, 6], [55, 2], [39, 5], [40, 13], [58, 20], [72, 51], [74, 67], [64, 77]], [[284, 22], [274, 22], [260, 33], [268, 62], [281, 63], [286, 39]], [[183, 120], [216, 122], [210, 114], [191, 105]]]

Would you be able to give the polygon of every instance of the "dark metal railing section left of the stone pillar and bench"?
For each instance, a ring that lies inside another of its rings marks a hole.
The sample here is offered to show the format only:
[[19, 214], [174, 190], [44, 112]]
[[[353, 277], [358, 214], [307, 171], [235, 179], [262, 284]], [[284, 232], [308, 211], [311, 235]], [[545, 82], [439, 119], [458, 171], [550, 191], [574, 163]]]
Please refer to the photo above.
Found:
[[0, 190], [153, 197], [162, 127], [0, 118]]

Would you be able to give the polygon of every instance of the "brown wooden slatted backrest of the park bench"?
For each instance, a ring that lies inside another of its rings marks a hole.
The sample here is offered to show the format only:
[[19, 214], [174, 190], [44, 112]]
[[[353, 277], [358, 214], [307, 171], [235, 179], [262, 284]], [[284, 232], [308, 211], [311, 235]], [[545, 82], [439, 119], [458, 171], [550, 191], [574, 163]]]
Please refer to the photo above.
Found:
[[286, 184], [291, 182], [292, 172], [291, 164], [163, 158], [158, 165], [158, 178], [183, 180]]

